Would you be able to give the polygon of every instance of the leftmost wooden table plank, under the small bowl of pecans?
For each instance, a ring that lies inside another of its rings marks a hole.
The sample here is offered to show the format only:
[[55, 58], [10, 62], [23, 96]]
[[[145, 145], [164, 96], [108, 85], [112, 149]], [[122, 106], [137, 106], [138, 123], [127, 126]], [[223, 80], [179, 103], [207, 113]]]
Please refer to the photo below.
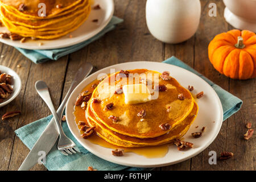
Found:
[[[0, 108], [0, 116], [8, 111], [22, 110], [24, 92], [26, 90], [26, 81], [28, 78], [28, 73], [31, 67], [31, 62], [24, 59], [15, 48], [0, 44], [1, 58], [0, 64], [13, 69], [22, 80], [22, 90], [18, 97], [10, 104]], [[22, 67], [17, 68], [16, 66], [20, 64]], [[23, 114], [23, 111], [22, 111]], [[1, 120], [1, 119], [0, 119]], [[6, 121], [0, 121], [1, 127], [1, 137], [0, 137], [0, 170], [7, 170], [10, 164], [11, 152], [14, 143], [14, 130], [18, 125], [20, 117], [14, 117], [7, 119]], [[3, 132], [3, 133], [2, 133]]]

